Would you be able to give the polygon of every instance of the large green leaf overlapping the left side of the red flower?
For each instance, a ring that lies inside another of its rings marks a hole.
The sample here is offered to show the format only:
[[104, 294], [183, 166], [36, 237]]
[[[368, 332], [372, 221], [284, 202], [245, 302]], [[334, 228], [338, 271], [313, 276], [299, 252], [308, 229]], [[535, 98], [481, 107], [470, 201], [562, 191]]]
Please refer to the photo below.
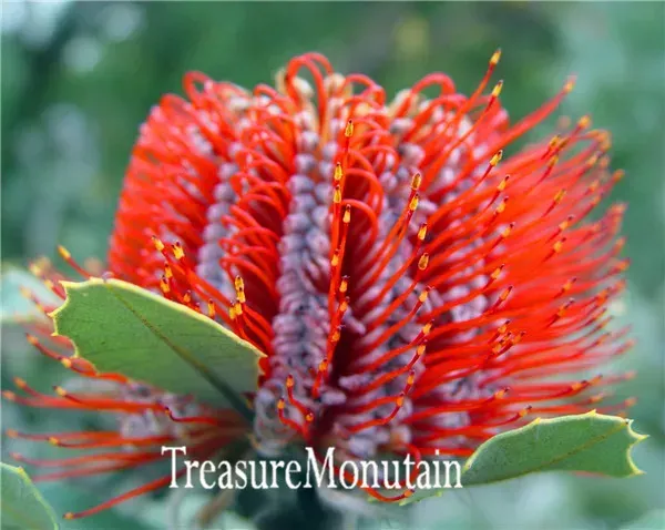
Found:
[[211, 318], [119, 279], [62, 282], [55, 333], [100, 371], [162, 390], [231, 405], [248, 419], [243, 393], [255, 391], [264, 355]]

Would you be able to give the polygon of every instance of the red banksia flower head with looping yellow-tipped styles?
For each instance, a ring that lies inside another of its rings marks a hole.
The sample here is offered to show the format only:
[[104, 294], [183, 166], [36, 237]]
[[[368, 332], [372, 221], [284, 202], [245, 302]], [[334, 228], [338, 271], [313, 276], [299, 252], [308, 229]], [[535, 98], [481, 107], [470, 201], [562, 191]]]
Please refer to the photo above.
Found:
[[[164, 96], [141, 128], [108, 268], [266, 354], [254, 426], [98, 374], [38, 329], [30, 342], [99, 390], [45, 396], [18, 381], [25, 396], [6, 397], [119, 418], [109, 432], [12, 432], [102, 451], [33, 462], [64, 468], [42, 478], [135, 468], [174, 441], [205, 458], [250, 429], [266, 453], [295, 441], [348, 459], [467, 457], [534, 415], [628, 406], [598, 406], [630, 376], [596, 371], [631, 345], [607, 330], [627, 266], [624, 206], [586, 220], [622, 176], [607, 170], [608, 134], [582, 118], [504, 156], [573, 83], [511, 124], [502, 83], [489, 84], [499, 55], [470, 96], [433, 73], [388, 100], [316, 53], [293, 59], [275, 88], [185, 75], [186, 99]], [[63, 297], [58, 274], [33, 271]]]

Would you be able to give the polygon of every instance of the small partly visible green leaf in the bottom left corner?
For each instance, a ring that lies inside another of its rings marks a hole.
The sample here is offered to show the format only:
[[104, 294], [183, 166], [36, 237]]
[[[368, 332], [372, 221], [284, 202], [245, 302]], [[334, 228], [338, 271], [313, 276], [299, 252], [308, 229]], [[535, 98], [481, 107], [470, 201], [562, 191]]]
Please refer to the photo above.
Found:
[[58, 530], [55, 514], [22, 468], [0, 462], [0, 528]]

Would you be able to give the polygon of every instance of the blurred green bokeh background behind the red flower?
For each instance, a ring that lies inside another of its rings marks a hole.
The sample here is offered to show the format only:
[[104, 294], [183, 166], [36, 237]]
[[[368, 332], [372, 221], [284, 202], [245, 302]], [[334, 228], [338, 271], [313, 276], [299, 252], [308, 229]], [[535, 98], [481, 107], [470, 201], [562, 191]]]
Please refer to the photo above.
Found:
[[[342, 72], [361, 71], [389, 93], [434, 70], [470, 93], [497, 47], [502, 101], [520, 118], [553, 95], [569, 73], [577, 85], [563, 113], [591, 113], [613, 135], [613, 165], [626, 177], [611, 200], [628, 211], [630, 288], [613, 310], [638, 344], [623, 365], [638, 370], [620, 389], [637, 396], [634, 426], [651, 438], [634, 451], [646, 475], [563, 475], [450, 492], [422, 502], [407, 528], [665, 528], [665, 3], [2, 3], [2, 265], [53, 256], [103, 257], [123, 171], [137, 128], [187, 70], [243, 85], [270, 82], [293, 54], [326, 53]], [[48, 389], [58, 366], [28, 350], [12, 312], [29, 310], [12, 275], [2, 283], [2, 386], [21, 376]], [[624, 366], [624, 367], [625, 367]], [[40, 414], [2, 404], [2, 425], [59, 431], [95, 418]], [[8, 450], [44, 456], [54, 448]], [[60, 513], [96, 502], [126, 477], [43, 485]], [[144, 498], [72, 529], [166, 528], [165, 498]], [[194, 509], [196, 495], [185, 499]], [[661, 510], [661, 511], [658, 511]], [[382, 526], [382, 527], [381, 527]], [[376, 522], [375, 528], [399, 528]], [[221, 528], [221, 527], [219, 527]], [[233, 519], [225, 528], [252, 528]]]

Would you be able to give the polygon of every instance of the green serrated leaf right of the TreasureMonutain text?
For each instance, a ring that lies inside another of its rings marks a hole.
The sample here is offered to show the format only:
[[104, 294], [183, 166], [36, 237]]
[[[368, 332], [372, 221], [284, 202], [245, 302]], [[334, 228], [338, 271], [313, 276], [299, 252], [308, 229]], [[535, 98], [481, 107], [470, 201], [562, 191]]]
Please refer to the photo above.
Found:
[[[631, 458], [631, 448], [647, 437], [636, 434], [632, 422], [595, 410], [553, 419], [536, 418], [482, 444], [464, 463], [462, 486], [498, 482], [539, 471], [584, 471], [610, 477], [642, 475]], [[451, 468], [451, 485], [454, 480]], [[417, 491], [402, 503], [440, 496], [442, 491]]]

